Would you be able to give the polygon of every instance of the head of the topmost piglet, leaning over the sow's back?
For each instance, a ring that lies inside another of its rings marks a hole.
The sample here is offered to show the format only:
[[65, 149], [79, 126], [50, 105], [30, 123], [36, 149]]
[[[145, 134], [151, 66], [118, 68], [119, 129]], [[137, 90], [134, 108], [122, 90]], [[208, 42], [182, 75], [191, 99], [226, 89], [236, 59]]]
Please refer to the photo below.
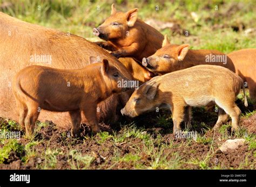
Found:
[[111, 8], [111, 16], [102, 25], [93, 28], [93, 34], [103, 40], [124, 38], [129, 27], [134, 25], [138, 17], [138, 9], [132, 9], [124, 13], [117, 11], [114, 4]]

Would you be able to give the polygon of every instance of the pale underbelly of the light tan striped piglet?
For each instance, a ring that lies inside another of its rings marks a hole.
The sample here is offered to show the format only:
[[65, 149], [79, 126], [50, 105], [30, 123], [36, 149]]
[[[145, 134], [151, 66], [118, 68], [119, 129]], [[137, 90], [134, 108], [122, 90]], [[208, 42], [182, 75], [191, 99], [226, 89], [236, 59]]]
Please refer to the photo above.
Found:
[[213, 102], [214, 98], [212, 98], [211, 96], [198, 96], [184, 98], [184, 100], [189, 106], [206, 106], [208, 103]]

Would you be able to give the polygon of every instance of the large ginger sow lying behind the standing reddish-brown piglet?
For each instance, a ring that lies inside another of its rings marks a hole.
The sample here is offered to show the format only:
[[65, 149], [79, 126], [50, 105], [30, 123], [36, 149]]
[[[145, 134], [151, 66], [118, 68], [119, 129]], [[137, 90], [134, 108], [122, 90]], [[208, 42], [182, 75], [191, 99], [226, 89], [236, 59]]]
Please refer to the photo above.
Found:
[[[43, 26], [26, 23], [0, 12], [0, 116], [18, 120], [11, 80], [19, 70], [30, 65], [60, 69], [79, 69], [90, 62], [90, 56], [100, 61], [109, 60], [125, 77], [132, 76], [114, 56], [84, 38]], [[119, 119], [120, 109], [131, 94], [114, 94], [99, 103], [98, 120], [114, 123]], [[123, 104], [122, 104], [123, 103]], [[68, 112], [42, 111], [38, 120], [52, 120], [57, 125], [70, 124]], [[82, 118], [85, 122], [86, 119]]]

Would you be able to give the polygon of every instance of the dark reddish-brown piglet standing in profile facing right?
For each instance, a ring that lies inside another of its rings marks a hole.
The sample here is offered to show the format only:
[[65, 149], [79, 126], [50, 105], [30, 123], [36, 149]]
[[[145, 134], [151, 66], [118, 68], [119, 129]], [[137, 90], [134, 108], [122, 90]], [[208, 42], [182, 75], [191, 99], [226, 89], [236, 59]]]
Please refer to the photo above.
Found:
[[100, 128], [97, 123], [97, 104], [112, 93], [126, 91], [118, 81], [129, 81], [119, 70], [103, 59], [82, 69], [55, 69], [29, 66], [17, 73], [12, 91], [19, 111], [19, 124], [26, 133], [33, 133], [41, 109], [69, 112], [72, 136], [79, 136], [81, 112], [87, 118], [92, 132]]

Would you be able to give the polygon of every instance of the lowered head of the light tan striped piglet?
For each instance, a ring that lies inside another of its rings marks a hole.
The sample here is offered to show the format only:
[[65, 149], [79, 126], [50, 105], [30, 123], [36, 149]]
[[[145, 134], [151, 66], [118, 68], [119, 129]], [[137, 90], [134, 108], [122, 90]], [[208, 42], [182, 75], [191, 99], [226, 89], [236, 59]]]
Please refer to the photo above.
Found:
[[[159, 76], [157, 76], [159, 77]], [[146, 82], [132, 93], [129, 101], [125, 107], [121, 110], [121, 113], [125, 116], [136, 117], [144, 112], [156, 110], [156, 107], [161, 105], [159, 97], [159, 83], [154, 81]]]

